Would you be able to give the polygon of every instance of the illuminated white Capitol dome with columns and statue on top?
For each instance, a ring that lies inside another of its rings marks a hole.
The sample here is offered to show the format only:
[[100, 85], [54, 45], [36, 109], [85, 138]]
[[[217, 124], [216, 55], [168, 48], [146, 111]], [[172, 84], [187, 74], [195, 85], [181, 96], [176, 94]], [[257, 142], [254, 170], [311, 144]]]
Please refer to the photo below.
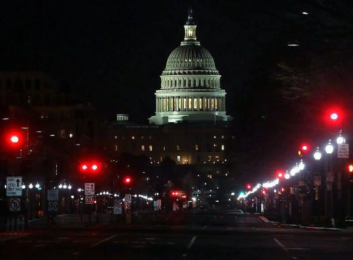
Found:
[[229, 121], [226, 92], [221, 89], [221, 75], [210, 52], [196, 41], [193, 12], [184, 25], [180, 46], [167, 59], [161, 75], [161, 89], [156, 95], [156, 115], [150, 124]]

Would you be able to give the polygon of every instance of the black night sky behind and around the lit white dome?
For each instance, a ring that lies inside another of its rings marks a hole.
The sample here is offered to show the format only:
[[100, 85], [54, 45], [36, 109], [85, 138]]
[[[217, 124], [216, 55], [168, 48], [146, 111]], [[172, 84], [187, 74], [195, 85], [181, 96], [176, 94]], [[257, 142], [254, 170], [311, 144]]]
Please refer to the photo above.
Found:
[[222, 75], [239, 150], [252, 165], [246, 171], [269, 176], [293, 160], [300, 114], [269, 80], [281, 57], [295, 55], [281, 33], [288, 25], [277, 19], [279, 1], [8, 2], [0, 6], [0, 69], [67, 79], [107, 117], [128, 113], [141, 123], [155, 112], [161, 72], [183, 41], [192, 5], [197, 39]]

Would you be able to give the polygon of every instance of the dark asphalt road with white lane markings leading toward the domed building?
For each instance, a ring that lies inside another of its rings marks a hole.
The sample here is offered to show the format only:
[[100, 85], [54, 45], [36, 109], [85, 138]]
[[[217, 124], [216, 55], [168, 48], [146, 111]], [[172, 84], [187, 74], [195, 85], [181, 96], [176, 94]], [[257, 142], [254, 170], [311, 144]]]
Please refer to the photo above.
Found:
[[[196, 215], [196, 216], [195, 216]], [[195, 219], [196, 218], [196, 219]], [[208, 211], [81, 229], [36, 229], [0, 242], [0, 259], [351, 260], [353, 234], [283, 228], [256, 215]]]

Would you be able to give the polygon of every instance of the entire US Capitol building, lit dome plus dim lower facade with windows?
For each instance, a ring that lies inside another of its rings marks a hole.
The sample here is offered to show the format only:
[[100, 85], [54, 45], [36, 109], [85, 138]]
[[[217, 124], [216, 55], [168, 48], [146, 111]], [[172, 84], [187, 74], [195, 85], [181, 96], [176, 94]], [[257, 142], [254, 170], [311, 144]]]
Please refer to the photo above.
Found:
[[192, 11], [184, 28], [184, 41], [169, 55], [162, 72], [156, 113], [149, 124], [134, 124], [128, 114], [118, 114], [105, 126], [101, 143], [110, 158], [130, 153], [148, 156], [156, 165], [165, 157], [177, 165], [227, 162], [236, 139], [229, 127], [232, 118], [226, 115], [221, 76], [210, 52], [196, 41]]

